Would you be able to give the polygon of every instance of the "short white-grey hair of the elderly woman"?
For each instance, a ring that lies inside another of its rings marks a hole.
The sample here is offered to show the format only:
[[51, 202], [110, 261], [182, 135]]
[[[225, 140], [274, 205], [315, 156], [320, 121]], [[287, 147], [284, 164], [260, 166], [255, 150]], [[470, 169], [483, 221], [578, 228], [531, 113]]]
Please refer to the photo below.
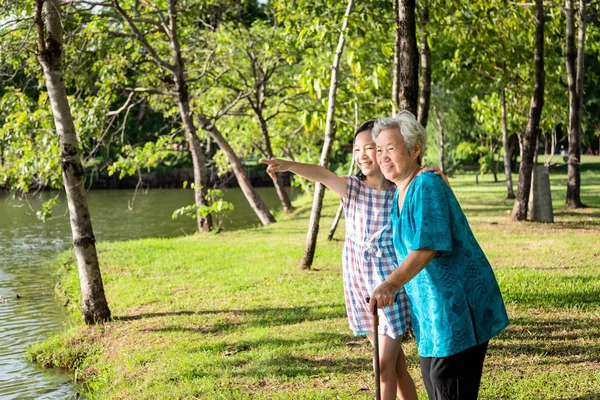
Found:
[[386, 129], [396, 129], [402, 135], [408, 154], [412, 153], [416, 145], [420, 146], [421, 153], [417, 160], [420, 165], [427, 149], [427, 131], [415, 116], [410, 111], [402, 110], [393, 117], [380, 118], [375, 122], [371, 134], [377, 139], [381, 131]]

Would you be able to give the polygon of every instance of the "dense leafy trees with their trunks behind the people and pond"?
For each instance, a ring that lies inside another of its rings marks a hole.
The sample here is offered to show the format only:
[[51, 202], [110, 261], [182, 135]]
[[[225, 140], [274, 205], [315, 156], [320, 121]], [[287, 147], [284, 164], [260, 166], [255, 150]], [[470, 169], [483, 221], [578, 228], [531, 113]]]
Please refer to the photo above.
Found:
[[[201, 207], [218, 176], [232, 173], [268, 224], [273, 216], [246, 174], [251, 161], [287, 156], [347, 170], [357, 120], [400, 107], [428, 125], [428, 162], [443, 156], [448, 173], [468, 162], [479, 173], [504, 171], [517, 219], [527, 215], [532, 157], [562, 146], [566, 202], [581, 207], [581, 153], [600, 145], [600, 4], [545, 4], [542, 27], [539, 6], [367, 0], [343, 29], [348, 4], [334, 0], [61, 2], [64, 90], [84, 176], [192, 168]], [[61, 143], [31, 40], [34, 7], [0, 8], [0, 186], [60, 188]], [[276, 187], [289, 211], [283, 182]], [[319, 185], [315, 193], [307, 266]], [[198, 228], [210, 229], [210, 218], [198, 218]]]

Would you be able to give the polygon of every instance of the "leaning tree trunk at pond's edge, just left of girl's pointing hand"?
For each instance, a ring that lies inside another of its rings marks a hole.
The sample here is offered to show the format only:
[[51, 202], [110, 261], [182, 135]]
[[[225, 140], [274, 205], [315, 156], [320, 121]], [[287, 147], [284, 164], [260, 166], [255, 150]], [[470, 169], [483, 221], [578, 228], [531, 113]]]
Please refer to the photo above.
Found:
[[252, 207], [252, 209], [256, 213], [256, 216], [258, 217], [258, 219], [260, 219], [260, 222], [263, 225], [269, 225], [270, 223], [275, 222], [275, 218], [269, 212], [269, 208], [262, 201], [258, 193], [256, 193], [256, 190], [254, 190], [254, 188], [252, 187], [250, 179], [248, 179], [248, 176], [244, 171], [244, 166], [242, 165], [242, 162], [229, 145], [229, 142], [227, 142], [227, 140], [221, 134], [221, 132], [215, 126], [215, 124], [210, 122], [206, 116], [198, 114], [198, 120], [200, 121], [200, 126], [202, 127], [202, 129], [204, 129], [210, 134], [210, 136], [217, 143], [221, 151], [223, 151], [223, 153], [225, 153], [225, 156], [227, 156], [229, 164], [231, 165], [233, 173], [235, 174], [235, 177], [237, 179], [238, 185], [240, 185], [240, 189], [242, 189], [244, 196], [246, 196], [246, 200], [248, 200], [250, 207]]

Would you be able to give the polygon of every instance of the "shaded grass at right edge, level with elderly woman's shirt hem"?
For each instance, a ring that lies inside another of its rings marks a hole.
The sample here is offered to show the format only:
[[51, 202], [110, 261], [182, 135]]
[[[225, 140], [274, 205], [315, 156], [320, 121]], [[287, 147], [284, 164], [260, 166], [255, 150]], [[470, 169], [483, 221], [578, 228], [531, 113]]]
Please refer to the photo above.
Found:
[[[491, 351], [528, 356], [536, 365], [600, 362], [600, 321], [582, 319], [511, 318], [511, 325]], [[584, 397], [587, 398], [587, 397]]]

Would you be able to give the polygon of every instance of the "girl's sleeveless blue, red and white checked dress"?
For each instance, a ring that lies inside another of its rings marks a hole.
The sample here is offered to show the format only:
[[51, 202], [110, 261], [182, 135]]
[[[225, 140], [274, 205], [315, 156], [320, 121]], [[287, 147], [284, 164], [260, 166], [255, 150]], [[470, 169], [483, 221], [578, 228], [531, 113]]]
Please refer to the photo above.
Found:
[[[346, 216], [343, 251], [344, 295], [350, 329], [355, 335], [373, 332], [366, 298], [398, 266], [392, 242], [391, 210], [396, 187], [371, 189], [356, 176], [346, 177], [342, 205]], [[410, 326], [404, 288], [394, 305], [379, 309], [379, 334], [396, 338]]]

